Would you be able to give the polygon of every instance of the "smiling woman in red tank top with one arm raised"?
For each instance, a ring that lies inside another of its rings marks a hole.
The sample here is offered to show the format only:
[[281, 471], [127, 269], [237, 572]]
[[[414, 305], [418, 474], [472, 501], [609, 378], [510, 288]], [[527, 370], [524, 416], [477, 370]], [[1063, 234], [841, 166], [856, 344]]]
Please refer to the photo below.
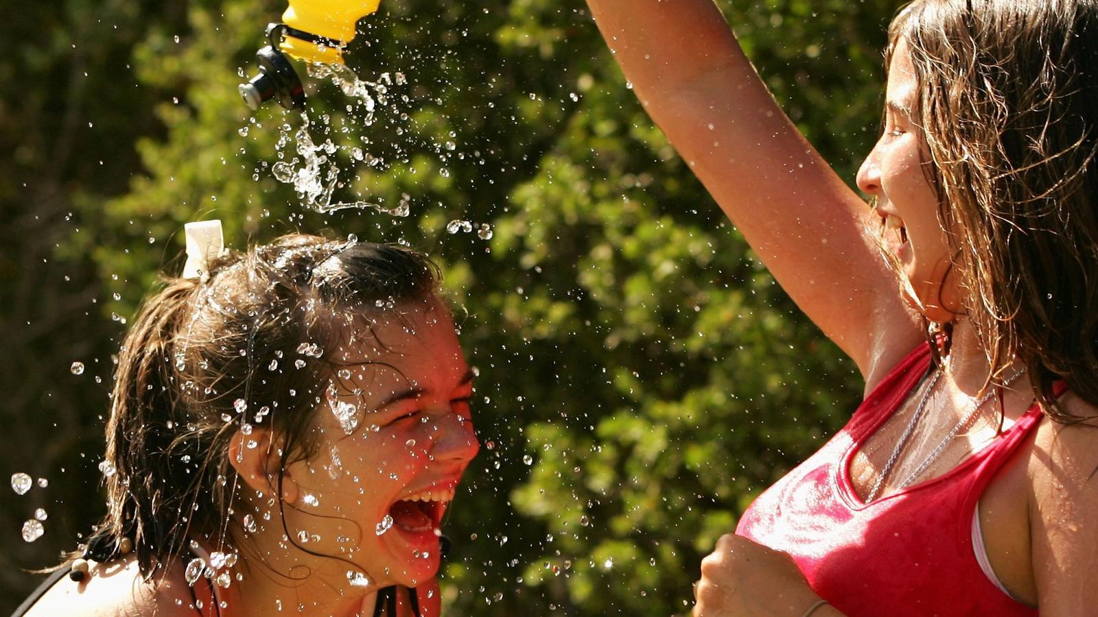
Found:
[[1098, 610], [1098, 2], [918, 0], [867, 205], [712, 0], [589, 0], [638, 97], [865, 401], [702, 563], [695, 614]]

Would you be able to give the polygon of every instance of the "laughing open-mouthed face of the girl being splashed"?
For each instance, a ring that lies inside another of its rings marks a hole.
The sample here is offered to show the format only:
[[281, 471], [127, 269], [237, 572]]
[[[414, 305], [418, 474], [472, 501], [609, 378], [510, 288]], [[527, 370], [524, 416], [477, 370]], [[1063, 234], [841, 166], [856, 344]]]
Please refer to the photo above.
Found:
[[437, 572], [442, 516], [479, 449], [453, 323], [437, 302], [417, 306], [329, 356], [320, 446], [288, 468], [293, 540], [355, 564], [351, 585], [415, 586]]

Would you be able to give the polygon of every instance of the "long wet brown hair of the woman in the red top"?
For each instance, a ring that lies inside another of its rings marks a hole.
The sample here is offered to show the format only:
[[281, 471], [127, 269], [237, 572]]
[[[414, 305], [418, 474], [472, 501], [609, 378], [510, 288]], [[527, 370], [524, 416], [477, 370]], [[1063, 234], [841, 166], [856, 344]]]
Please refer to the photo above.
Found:
[[1098, 405], [1098, 0], [917, 0], [886, 66], [900, 40], [991, 375], [1017, 355], [1044, 412], [1078, 422], [1053, 384]]

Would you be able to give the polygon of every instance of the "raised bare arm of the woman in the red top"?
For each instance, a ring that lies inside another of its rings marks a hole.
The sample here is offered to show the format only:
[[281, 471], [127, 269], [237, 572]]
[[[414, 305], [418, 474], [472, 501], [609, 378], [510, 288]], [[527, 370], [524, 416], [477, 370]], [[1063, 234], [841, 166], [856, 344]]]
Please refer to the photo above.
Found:
[[774, 101], [713, 0], [587, 0], [652, 120], [866, 384], [921, 338], [874, 216]]

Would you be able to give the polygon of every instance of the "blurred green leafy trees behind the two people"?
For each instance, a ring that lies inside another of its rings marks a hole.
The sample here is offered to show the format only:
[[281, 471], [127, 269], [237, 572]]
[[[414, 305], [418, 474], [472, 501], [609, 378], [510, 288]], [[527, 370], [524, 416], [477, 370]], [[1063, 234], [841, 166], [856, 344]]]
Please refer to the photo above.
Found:
[[[897, 2], [719, 4], [852, 179], [876, 136]], [[220, 217], [231, 246], [327, 229], [444, 263], [468, 313], [484, 445], [448, 526], [450, 614], [687, 613], [716, 538], [854, 408], [853, 366], [645, 115], [580, 0], [384, 0], [351, 66], [407, 81], [370, 126], [307, 80], [321, 138], [384, 160], [345, 160], [339, 194], [407, 194], [407, 217], [322, 215], [272, 178], [279, 126], [301, 120], [250, 114], [236, 85], [283, 8], [58, 0], [0, 24], [0, 475], [48, 481], [0, 501], [0, 612], [102, 514], [124, 323], [159, 271], [181, 268], [182, 224]], [[452, 220], [493, 235], [448, 233]], [[37, 507], [46, 532], [24, 542]]]

